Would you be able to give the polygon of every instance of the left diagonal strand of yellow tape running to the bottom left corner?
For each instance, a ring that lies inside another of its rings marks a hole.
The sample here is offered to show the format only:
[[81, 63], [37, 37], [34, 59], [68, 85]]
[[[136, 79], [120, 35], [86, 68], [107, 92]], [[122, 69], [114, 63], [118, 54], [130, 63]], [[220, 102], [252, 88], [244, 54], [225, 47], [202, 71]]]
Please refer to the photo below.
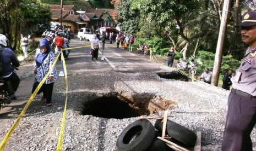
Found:
[[[58, 56], [59, 56], [59, 54], [58, 54]], [[45, 77], [43, 77], [42, 81], [39, 83], [39, 85], [37, 86], [36, 90], [30, 96], [28, 102], [26, 103], [25, 107], [21, 111], [19, 117], [16, 119], [14, 124], [10, 127], [9, 131], [4, 136], [3, 140], [0, 143], [0, 150], [3, 150], [3, 148], [6, 146], [7, 142], [9, 141], [9, 139], [12, 136], [12, 134], [13, 134], [14, 130], [16, 129], [16, 127], [19, 125], [19, 122], [20, 122], [21, 118], [24, 116], [26, 110], [29, 108], [29, 106], [30, 106], [31, 102], [33, 101], [34, 97], [36, 96], [37, 92], [40, 90], [40, 88], [41, 88], [42, 84], [45, 82], [46, 78], [48, 78], [48, 75], [52, 72], [52, 69], [53, 69], [53, 67], [55, 66], [55, 64], [56, 64], [56, 62], [58, 60], [58, 56], [56, 57], [56, 59], [53, 62], [52, 66], [50, 67], [50, 70], [48, 71], [48, 73], [45, 75]]]

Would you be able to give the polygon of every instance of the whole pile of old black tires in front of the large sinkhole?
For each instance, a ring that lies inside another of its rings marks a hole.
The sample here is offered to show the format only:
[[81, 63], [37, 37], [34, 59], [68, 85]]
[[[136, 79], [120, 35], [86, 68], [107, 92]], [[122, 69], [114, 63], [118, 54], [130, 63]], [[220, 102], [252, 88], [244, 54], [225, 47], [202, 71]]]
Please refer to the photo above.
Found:
[[[164, 141], [157, 137], [162, 135], [162, 119], [156, 120], [153, 126], [149, 120], [137, 120], [128, 125], [117, 138], [116, 150], [128, 151], [152, 151], [152, 150], [173, 150]], [[171, 136], [171, 142], [182, 147], [194, 147], [197, 135], [171, 120], [167, 120], [166, 134]]]

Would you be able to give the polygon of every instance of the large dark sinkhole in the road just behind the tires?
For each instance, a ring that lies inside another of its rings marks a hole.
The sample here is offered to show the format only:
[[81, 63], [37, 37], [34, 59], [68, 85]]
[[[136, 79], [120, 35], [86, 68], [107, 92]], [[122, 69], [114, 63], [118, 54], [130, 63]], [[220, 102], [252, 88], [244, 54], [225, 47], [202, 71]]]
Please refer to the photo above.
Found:
[[173, 109], [176, 103], [154, 94], [91, 94], [82, 103], [83, 115], [100, 118], [124, 119], [140, 115], [156, 114]]

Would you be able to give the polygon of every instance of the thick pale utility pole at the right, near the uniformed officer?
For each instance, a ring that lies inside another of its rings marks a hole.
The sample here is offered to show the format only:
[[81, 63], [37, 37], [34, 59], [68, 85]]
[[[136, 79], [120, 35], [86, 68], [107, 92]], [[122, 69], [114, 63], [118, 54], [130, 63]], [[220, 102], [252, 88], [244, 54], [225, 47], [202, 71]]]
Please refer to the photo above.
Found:
[[215, 86], [217, 86], [219, 82], [220, 66], [221, 66], [221, 60], [222, 60], [225, 33], [227, 28], [227, 17], [228, 17], [229, 8], [230, 8], [230, 0], [225, 0], [223, 4], [223, 9], [222, 9], [222, 15], [221, 15], [219, 38], [217, 42], [217, 48], [216, 48], [216, 54], [215, 54], [215, 60], [214, 60], [213, 77], [211, 78], [211, 84]]

